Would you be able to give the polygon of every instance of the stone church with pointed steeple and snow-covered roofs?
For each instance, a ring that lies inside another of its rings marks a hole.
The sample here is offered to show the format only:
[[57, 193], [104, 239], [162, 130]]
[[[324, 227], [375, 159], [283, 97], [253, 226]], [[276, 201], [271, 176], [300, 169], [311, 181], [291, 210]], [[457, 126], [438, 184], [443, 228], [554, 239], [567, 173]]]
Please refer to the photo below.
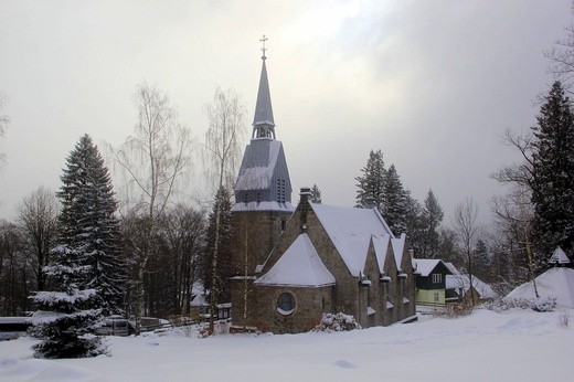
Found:
[[404, 234], [393, 235], [376, 209], [315, 203], [308, 188], [291, 204], [266, 59], [264, 47], [253, 135], [234, 189], [233, 327], [305, 332], [323, 312], [339, 311], [363, 328], [413, 319], [415, 283]]

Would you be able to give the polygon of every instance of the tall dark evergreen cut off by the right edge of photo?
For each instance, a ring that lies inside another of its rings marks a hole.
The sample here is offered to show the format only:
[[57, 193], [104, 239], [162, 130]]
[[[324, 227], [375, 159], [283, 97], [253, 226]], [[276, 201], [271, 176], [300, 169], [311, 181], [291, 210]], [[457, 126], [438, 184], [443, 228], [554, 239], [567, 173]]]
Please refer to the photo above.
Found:
[[560, 82], [544, 97], [532, 128], [534, 235], [541, 255], [574, 242], [574, 117]]

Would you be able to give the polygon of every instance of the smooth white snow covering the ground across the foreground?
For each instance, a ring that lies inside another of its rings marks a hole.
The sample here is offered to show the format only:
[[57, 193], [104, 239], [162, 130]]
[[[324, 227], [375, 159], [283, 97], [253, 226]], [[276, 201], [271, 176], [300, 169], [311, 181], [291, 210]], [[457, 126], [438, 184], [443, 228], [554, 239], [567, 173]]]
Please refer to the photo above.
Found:
[[573, 327], [574, 310], [479, 309], [337, 333], [110, 337], [113, 357], [79, 360], [33, 359], [20, 338], [0, 342], [0, 381], [566, 381]]

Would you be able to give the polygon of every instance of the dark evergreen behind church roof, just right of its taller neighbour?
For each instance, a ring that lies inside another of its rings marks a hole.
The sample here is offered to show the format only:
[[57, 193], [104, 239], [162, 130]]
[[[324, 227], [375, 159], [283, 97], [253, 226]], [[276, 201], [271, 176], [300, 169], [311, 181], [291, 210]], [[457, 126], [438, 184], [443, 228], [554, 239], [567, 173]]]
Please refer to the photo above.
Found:
[[383, 215], [386, 224], [395, 235], [406, 233], [406, 221], [410, 211], [411, 193], [403, 188], [395, 166], [391, 165], [383, 183]]

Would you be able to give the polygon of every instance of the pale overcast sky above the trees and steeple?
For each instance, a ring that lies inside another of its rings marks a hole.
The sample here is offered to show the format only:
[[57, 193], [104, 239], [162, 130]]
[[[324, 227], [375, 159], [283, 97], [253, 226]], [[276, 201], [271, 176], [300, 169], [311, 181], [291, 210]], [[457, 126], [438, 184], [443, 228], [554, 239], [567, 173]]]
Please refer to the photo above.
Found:
[[354, 177], [381, 149], [418, 200], [433, 189], [449, 215], [474, 197], [488, 220], [503, 192], [489, 174], [517, 159], [499, 137], [535, 124], [534, 100], [553, 81], [543, 51], [571, 22], [568, 0], [1, 0], [11, 124], [0, 219], [38, 187], [60, 187], [83, 134], [123, 142], [144, 81], [168, 93], [198, 141], [217, 86], [242, 96], [251, 124], [266, 34], [294, 202], [317, 183], [325, 203], [353, 205]]

